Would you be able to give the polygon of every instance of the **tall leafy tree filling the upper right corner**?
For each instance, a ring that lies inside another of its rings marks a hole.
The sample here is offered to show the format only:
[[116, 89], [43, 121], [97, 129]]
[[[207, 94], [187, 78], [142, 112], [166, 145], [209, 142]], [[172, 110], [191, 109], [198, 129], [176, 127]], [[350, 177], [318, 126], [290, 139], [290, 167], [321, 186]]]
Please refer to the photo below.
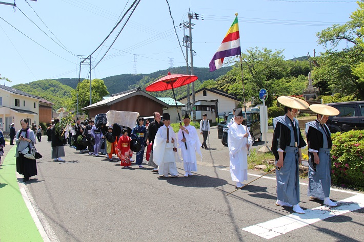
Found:
[[[364, 3], [357, 2], [359, 8], [350, 16], [351, 20], [343, 25], [333, 25], [317, 33], [318, 43], [327, 49], [321, 57], [316, 57], [319, 67], [315, 67], [313, 74], [314, 84], [327, 83], [330, 92], [341, 95], [351, 95], [364, 99]], [[348, 41], [353, 46], [335, 51], [334, 48], [342, 41]]]

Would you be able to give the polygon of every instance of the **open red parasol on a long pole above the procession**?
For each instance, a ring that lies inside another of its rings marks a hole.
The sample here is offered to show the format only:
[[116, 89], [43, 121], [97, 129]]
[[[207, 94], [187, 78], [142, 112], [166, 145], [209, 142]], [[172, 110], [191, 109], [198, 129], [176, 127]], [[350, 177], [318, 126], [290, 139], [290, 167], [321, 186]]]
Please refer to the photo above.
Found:
[[[179, 125], [182, 125], [181, 123], [181, 117], [179, 116], [178, 107], [177, 107], [177, 101], [176, 101], [176, 95], [174, 94], [174, 89], [176, 87], [187, 85], [191, 82], [194, 82], [197, 80], [197, 76], [193, 75], [182, 75], [182, 74], [171, 74], [168, 72], [168, 75], [165, 77], [160, 78], [159, 80], [156, 80], [152, 84], [148, 85], [146, 87], [146, 91], [148, 92], [158, 92], [158, 91], [167, 91], [172, 89], [173, 92], [173, 98], [174, 102], [176, 104], [176, 110], [178, 114], [179, 119]], [[183, 138], [185, 138], [185, 134], [182, 131]], [[187, 144], [185, 142], [185, 147], [187, 149]]]

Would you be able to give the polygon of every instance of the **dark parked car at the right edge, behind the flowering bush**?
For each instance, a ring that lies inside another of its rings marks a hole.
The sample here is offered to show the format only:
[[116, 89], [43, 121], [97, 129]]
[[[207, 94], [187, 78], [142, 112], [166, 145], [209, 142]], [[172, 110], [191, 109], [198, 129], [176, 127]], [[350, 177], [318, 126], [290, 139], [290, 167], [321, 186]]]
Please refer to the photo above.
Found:
[[326, 122], [331, 133], [364, 129], [364, 101], [337, 102], [326, 105], [340, 111], [337, 116], [330, 116]]

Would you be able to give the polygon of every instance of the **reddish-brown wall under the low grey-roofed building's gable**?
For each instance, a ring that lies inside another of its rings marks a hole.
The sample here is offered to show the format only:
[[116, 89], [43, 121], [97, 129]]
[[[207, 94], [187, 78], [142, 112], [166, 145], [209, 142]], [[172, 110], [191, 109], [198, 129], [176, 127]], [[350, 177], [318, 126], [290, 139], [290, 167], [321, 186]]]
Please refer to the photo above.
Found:
[[153, 116], [154, 112], [163, 114], [163, 105], [145, 96], [133, 96], [110, 106], [100, 106], [89, 109], [89, 117], [106, 114], [108, 111], [138, 112], [140, 116]]

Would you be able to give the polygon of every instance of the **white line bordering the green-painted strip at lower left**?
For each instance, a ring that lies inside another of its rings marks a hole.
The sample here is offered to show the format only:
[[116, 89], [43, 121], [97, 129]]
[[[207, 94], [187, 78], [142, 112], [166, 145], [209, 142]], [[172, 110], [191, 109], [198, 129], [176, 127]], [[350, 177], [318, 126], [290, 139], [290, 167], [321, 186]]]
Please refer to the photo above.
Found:
[[[16, 178], [23, 179], [23, 175], [16, 173]], [[19, 190], [22, 193], [23, 200], [27, 205], [30, 215], [41, 234], [42, 238], [46, 242], [59, 242], [58, 237], [55, 235], [53, 229], [49, 225], [46, 217], [43, 215], [42, 211], [39, 209], [38, 205], [35, 203], [31, 193], [29, 192], [27, 186], [24, 183], [18, 182]]]

